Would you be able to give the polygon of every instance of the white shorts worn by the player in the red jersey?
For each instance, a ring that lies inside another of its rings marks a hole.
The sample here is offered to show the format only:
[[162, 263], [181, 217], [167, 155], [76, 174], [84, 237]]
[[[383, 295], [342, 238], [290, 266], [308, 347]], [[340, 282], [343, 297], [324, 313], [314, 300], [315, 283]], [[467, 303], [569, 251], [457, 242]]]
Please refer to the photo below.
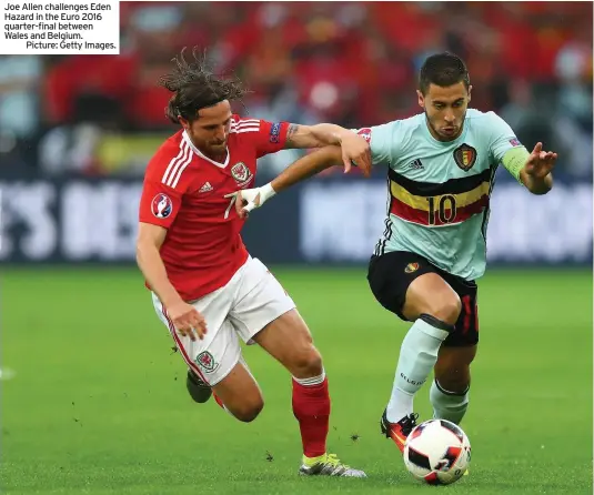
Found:
[[181, 336], [154, 293], [152, 301], [188, 366], [211, 386], [223, 380], [240, 360], [239, 337], [252, 344], [251, 339], [265, 325], [295, 307], [279, 281], [253, 257], [226, 285], [191, 303], [207, 321], [202, 341]]

